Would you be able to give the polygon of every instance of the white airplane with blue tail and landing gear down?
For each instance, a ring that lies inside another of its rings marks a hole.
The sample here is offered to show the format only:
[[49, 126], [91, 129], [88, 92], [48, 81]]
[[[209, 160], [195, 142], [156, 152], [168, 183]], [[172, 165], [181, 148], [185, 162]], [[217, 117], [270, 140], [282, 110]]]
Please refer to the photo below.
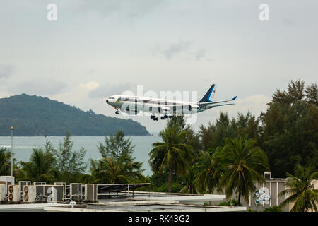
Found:
[[[138, 114], [139, 112], [147, 112], [151, 114], [153, 121], [160, 119], [171, 119], [174, 115], [194, 114], [204, 112], [213, 107], [225, 105], [235, 105], [232, 101], [236, 100], [237, 96], [230, 100], [213, 101], [211, 95], [216, 93], [216, 84], [211, 85], [204, 97], [199, 102], [186, 102], [180, 100], [166, 100], [151, 97], [137, 97], [128, 95], [112, 95], [106, 98], [108, 105], [114, 107], [115, 114], [119, 114], [119, 109], [127, 114]], [[227, 103], [230, 102], [230, 103]]]

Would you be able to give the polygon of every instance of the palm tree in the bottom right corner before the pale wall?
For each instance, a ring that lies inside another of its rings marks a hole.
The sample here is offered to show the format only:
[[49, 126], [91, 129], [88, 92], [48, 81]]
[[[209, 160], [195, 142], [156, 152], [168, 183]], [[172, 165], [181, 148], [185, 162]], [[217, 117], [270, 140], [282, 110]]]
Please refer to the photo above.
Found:
[[312, 180], [317, 179], [318, 171], [314, 171], [314, 167], [296, 166], [295, 174], [286, 173], [288, 181], [286, 186], [288, 189], [281, 191], [279, 196], [289, 195], [280, 205], [285, 206], [288, 203], [295, 203], [291, 211], [307, 212], [308, 210], [317, 212], [318, 190], [314, 189]]

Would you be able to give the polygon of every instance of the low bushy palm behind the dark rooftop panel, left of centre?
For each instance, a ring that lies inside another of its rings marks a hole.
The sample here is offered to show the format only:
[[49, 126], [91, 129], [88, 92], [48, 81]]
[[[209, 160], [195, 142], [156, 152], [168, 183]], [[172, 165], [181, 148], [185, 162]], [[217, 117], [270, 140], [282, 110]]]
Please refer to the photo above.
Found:
[[90, 172], [93, 175], [93, 182], [117, 184], [122, 182], [134, 182], [140, 179], [141, 162], [131, 161], [126, 156], [104, 157], [102, 160], [91, 160]]

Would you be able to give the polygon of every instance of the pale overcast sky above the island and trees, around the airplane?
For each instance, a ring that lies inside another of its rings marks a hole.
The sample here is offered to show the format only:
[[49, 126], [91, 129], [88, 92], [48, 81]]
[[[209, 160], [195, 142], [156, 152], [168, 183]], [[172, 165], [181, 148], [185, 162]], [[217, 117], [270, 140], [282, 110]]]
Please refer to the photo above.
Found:
[[[49, 4], [57, 20], [48, 20]], [[259, 6], [268, 6], [260, 20]], [[0, 98], [27, 93], [111, 117], [109, 95], [197, 92], [216, 83], [220, 112], [257, 117], [290, 80], [317, 83], [318, 1], [0, 0]], [[166, 121], [130, 116], [148, 131]]]

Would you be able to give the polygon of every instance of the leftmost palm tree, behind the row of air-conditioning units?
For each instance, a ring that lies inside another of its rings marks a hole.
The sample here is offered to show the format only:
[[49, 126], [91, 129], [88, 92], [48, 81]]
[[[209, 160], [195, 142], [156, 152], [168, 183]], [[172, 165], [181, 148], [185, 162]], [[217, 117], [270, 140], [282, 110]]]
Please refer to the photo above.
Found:
[[54, 162], [52, 153], [41, 148], [33, 148], [29, 162], [21, 162], [25, 179], [53, 182], [58, 174], [54, 169]]

